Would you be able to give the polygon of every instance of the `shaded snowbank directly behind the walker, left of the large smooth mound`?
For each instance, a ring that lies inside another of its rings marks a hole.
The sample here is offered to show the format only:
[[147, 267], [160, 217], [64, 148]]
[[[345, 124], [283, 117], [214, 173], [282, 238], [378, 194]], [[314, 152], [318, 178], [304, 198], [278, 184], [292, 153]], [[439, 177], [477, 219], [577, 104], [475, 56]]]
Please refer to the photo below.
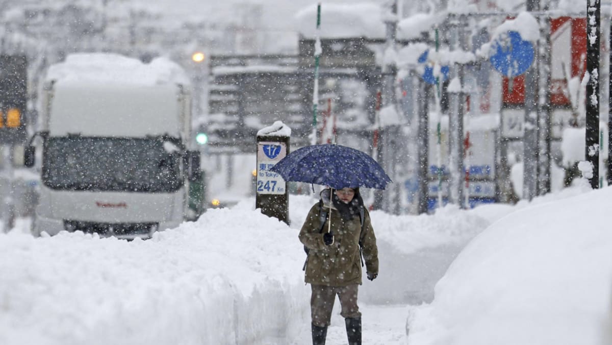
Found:
[[433, 287], [461, 248], [491, 224], [479, 213], [444, 207], [435, 214], [394, 216], [370, 213], [379, 252], [375, 284], [364, 283], [368, 304], [420, 304], [433, 299]]

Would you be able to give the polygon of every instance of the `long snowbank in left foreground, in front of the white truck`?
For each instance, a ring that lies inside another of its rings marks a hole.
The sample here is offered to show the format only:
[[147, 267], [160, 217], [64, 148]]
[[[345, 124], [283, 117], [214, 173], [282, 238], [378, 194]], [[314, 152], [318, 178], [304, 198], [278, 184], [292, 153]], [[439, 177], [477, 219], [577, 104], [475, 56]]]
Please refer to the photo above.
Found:
[[308, 323], [297, 234], [259, 211], [147, 241], [15, 231], [0, 253], [0, 344], [250, 344]]

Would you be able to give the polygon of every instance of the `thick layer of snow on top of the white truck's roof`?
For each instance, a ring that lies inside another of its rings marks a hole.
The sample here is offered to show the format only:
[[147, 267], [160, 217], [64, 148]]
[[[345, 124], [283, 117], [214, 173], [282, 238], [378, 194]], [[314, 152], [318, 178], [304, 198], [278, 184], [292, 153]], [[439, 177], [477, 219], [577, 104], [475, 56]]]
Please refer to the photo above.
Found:
[[76, 53], [49, 67], [45, 81], [62, 83], [104, 82], [155, 86], [168, 83], [190, 85], [181, 66], [167, 58], [145, 64], [113, 53]]

